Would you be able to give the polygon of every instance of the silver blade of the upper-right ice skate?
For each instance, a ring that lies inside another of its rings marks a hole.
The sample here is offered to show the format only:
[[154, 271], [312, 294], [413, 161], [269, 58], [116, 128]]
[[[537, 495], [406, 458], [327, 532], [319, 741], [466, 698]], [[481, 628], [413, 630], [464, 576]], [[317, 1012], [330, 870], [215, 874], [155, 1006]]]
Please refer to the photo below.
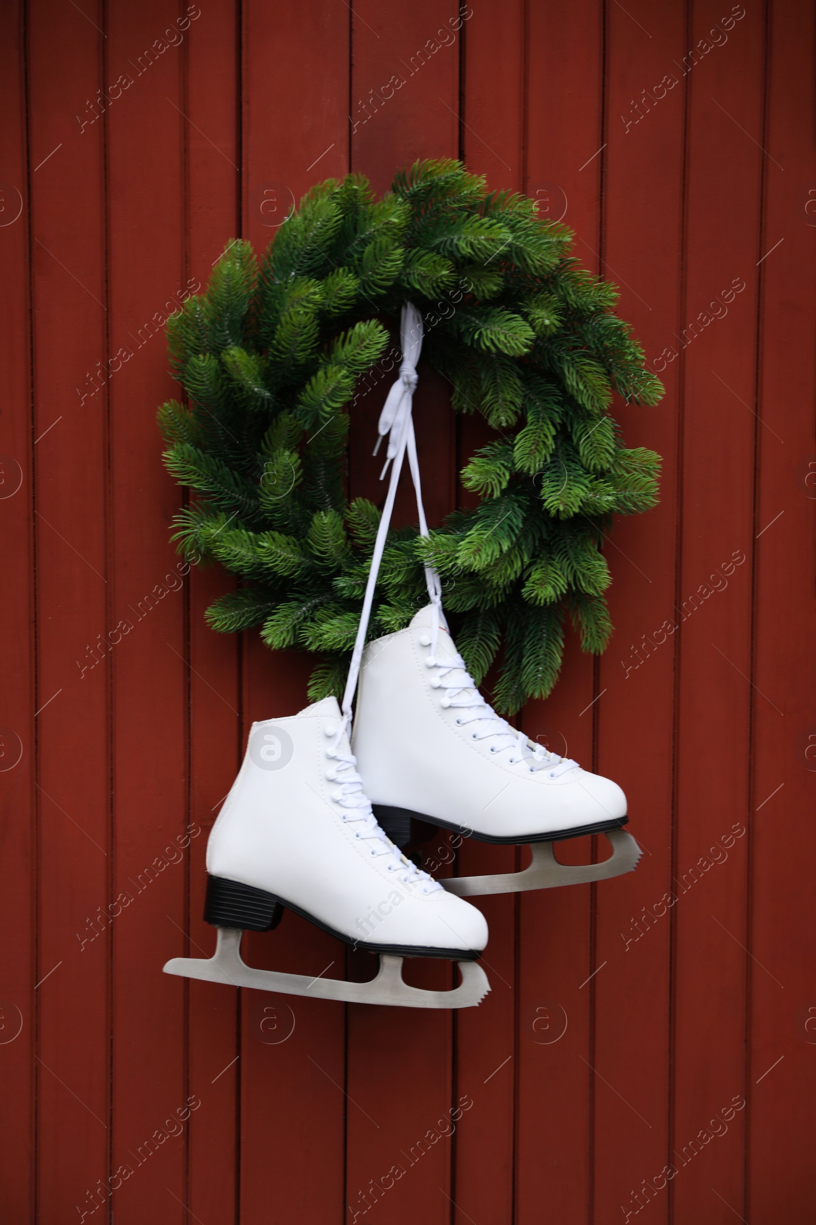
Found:
[[531, 843], [532, 862], [524, 872], [454, 876], [439, 881], [439, 884], [459, 898], [470, 898], [478, 893], [524, 893], [526, 889], [554, 889], [562, 884], [586, 884], [634, 872], [641, 851], [632, 835], [625, 829], [609, 829], [604, 838], [612, 843], [612, 856], [603, 864], [559, 864], [553, 854], [553, 843]]

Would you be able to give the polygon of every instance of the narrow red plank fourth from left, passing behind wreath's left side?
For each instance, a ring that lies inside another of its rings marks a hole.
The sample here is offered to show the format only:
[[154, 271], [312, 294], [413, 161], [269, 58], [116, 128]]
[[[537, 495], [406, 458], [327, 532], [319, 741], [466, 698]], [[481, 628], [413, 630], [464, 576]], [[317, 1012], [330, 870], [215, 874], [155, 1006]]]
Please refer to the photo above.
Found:
[[[206, 285], [213, 262], [240, 232], [239, 130], [236, 124], [240, 31], [234, 5], [207, 12], [190, 27], [185, 50], [188, 257], [191, 288]], [[195, 126], [193, 126], [195, 125]], [[213, 947], [203, 921], [207, 838], [232, 784], [241, 746], [240, 644], [204, 622], [207, 605], [234, 582], [215, 568], [187, 578], [190, 635], [190, 849], [186, 854], [191, 957]], [[196, 947], [198, 946], [198, 948]], [[214, 984], [188, 985], [188, 1076], [207, 1085], [213, 1109], [197, 1110], [188, 1127], [184, 1197], [201, 1220], [236, 1219], [237, 1170], [224, 1153], [237, 1150], [236, 1085], [240, 1077], [239, 992]], [[230, 1066], [231, 1065], [231, 1066]], [[226, 1071], [225, 1071], [226, 1069]]]

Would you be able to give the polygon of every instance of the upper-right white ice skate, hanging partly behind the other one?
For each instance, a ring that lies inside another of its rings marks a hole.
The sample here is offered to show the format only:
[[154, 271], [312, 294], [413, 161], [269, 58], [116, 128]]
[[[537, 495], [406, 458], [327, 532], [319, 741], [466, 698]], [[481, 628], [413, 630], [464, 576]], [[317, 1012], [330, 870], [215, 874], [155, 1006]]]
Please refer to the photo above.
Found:
[[[547, 752], [487, 704], [467, 675], [440, 604], [362, 658], [354, 751], [374, 813], [396, 827], [418, 817], [488, 843], [532, 843], [524, 872], [456, 877], [459, 895], [606, 880], [632, 871], [640, 849], [617, 783]], [[610, 859], [565, 866], [552, 844], [603, 833]]]

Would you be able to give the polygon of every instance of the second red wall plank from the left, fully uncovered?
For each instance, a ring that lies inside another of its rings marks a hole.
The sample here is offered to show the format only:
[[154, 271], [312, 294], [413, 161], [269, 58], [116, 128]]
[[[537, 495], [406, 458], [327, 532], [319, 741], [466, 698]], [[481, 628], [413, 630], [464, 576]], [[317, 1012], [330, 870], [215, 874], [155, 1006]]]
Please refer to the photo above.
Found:
[[[109, 637], [106, 403], [104, 391], [86, 386], [86, 371], [105, 355], [103, 126], [81, 130], [66, 107], [71, 98], [81, 109], [100, 81], [100, 37], [75, 11], [50, 20], [46, 6], [34, 6], [29, 16], [37, 601], [48, 610], [37, 632], [38, 1207], [57, 1216], [66, 1204], [92, 1212], [99, 1199], [105, 1212], [109, 1200], [117, 648]], [[80, 232], [73, 209], [84, 217]]]

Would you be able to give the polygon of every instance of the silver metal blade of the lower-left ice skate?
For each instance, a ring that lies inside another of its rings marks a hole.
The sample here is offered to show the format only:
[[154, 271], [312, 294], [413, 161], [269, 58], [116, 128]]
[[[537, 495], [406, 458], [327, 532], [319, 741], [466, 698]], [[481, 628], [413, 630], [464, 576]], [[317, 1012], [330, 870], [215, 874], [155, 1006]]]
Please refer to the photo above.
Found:
[[475, 1008], [491, 984], [476, 962], [459, 962], [461, 982], [453, 991], [425, 991], [402, 981], [402, 958], [379, 956], [379, 970], [371, 982], [345, 982], [339, 979], [310, 979], [278, 970], [254, 970], [241, 959], [241, 936], [236, 927], [218, 927], [215, 953], [210, 958], [174, 957], [165, 974], [204, 982], [224, 982], [234, 987], [256, 987], [283, 995], [313, 996], [319, 1000], [345, 1000], [349, 1003], [394, 1005], [400, 1008]]

